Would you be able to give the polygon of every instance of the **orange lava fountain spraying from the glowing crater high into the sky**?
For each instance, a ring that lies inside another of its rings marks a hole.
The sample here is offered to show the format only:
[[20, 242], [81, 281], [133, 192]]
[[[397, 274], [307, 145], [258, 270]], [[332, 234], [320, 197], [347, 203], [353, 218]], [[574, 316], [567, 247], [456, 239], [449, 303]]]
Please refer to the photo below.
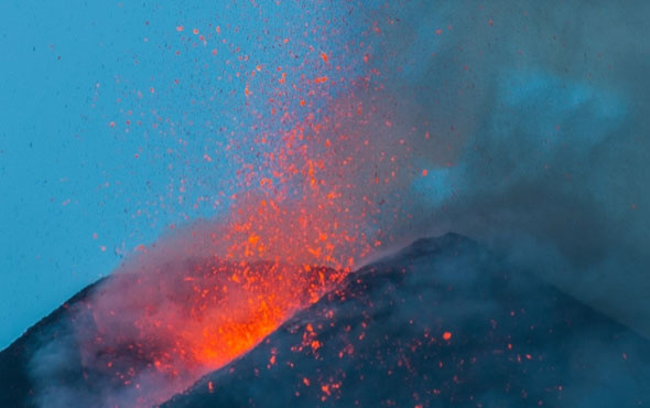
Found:
[[377, 69], [307, 50], [308, 75], [278, 66], [263, 83], [269, 72], [257, 65], [243, 89], [256, 125], [203, 154], [237, 168], [220, 192], [229, 213], [169, 238], [169, 248], [185, 248], [178, 254], [145, 248], [94, 293], [76, 328], [83, 365], [139, 405], [253, 347], [390, 244], [387, 226], [409, 217], [400, 185], [421, 171], [404, 138], [423, 130], [393, 115]]

